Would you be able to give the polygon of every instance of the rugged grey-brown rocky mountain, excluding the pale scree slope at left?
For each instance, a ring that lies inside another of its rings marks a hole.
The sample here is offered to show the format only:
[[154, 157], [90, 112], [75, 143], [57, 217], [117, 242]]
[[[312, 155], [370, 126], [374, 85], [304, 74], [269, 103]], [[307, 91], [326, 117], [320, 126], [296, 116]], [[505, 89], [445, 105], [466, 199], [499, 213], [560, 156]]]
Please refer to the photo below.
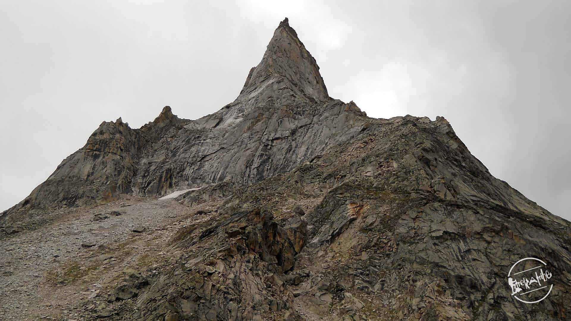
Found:
[[[137, 267], [86, 319], [571, 319], [571, 224], [494, 178], [444, 118], [367, 118], [329, 98], [287, 19], [234, 102], [102, 123], [2, 222], [196, 187], [164, 200], [194, 208], [179, 254]], [[528, 257], [553, 271], [535, 304], [508, 285]]]

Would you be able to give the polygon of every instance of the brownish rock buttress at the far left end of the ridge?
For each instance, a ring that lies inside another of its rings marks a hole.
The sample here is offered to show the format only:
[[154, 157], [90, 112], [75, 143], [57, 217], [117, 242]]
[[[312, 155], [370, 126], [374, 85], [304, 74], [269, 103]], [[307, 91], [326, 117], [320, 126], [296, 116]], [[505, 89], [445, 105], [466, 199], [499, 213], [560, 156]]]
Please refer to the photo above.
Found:
[[121, 119], [103, 122], [87, 143], [64, 159], [14, 210], [108, 202], [127, 191], [141, 139]]

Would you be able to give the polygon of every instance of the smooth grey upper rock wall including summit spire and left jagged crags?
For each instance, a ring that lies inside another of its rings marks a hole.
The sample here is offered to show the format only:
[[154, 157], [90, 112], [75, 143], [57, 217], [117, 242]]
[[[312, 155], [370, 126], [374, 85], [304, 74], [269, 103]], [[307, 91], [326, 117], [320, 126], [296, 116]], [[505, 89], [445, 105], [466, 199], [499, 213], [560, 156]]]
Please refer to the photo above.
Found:
[[162, 196], [226, 180], [258, 182], [354, 137], [364, 116], [355, 103], [328, 97], [315, 59], [286, 18], [233, 103], [196, 121], [167, 106], [140, 129], [120, 118], [103, 122], [1, 222], [121, 193]]

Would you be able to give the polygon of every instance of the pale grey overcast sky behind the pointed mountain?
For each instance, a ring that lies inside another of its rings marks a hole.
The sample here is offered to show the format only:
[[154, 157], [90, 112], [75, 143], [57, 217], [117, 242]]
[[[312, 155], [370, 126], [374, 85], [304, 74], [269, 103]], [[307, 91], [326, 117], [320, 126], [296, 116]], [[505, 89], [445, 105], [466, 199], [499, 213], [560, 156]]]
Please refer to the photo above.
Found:
[[329, 95], [371, 117], [444, 116], [468, 149], [571, 219], [571, 1], [0, 1], [0, 210], [102, 121], [239, 94], [284, 17]]

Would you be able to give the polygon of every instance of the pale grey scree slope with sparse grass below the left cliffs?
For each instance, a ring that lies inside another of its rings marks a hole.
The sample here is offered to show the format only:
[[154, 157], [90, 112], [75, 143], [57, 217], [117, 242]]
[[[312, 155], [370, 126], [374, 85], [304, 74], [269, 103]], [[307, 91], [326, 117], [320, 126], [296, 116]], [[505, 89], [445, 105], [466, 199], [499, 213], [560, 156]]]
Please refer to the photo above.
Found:
[[107, 280], [168, 259], [191, 212], [173, 199], [123, 199], [0, 240], [0, 320], [83, 320], [79, 304]]

